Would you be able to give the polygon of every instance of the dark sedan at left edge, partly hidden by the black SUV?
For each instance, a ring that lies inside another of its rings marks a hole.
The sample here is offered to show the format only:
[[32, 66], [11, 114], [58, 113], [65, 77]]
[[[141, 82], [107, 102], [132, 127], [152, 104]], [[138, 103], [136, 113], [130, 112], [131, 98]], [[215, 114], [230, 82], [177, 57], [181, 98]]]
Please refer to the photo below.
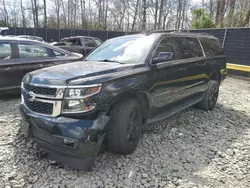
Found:
[[82, 60], [46, 43], [21, 38], [0, 37], [0, 91], [20, 90], [21, 80], [30, 71]]

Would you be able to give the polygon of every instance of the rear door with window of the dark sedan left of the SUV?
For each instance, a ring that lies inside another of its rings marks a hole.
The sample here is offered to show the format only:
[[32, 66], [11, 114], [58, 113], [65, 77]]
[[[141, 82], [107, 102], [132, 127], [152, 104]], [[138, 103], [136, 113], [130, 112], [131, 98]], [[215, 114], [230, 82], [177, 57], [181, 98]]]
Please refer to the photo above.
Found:
[[53, 65], [53, 55], [49, 48], [36, 43], [18, 43], [19, 62], [22, 76], [28, 72]]

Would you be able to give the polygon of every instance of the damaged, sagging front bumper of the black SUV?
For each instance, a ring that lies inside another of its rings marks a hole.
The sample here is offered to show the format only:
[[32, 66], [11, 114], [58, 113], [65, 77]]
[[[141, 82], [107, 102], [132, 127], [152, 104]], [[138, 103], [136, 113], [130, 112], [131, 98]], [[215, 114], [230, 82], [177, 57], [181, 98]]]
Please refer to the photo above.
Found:
[[94, 120], [46, 117], [34, 114], [20, 105], [22, 125], [29, 137], [51, 157], [71, 168], [91, 170], [105, 138], [104, 128], [109, 117]]

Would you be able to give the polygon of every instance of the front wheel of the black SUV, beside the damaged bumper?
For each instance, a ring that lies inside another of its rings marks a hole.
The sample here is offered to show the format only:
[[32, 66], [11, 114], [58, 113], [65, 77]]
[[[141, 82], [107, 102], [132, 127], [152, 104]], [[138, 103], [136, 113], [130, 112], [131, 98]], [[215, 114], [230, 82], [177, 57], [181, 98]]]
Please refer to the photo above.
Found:
[[142, 133], [142, 113], [138, 101], [125, 99], [110, 111], [111, 121], [107, 131], [107, 146], [114, 153], [132, 153]]

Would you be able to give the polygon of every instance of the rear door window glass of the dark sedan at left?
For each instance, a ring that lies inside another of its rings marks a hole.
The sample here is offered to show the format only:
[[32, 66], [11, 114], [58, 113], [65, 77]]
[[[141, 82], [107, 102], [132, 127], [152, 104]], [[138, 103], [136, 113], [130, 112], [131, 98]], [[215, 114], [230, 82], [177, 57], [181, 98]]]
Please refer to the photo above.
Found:
[[18, 44], [20, 58], [49, 57], [47, 48], [34, 44]]

